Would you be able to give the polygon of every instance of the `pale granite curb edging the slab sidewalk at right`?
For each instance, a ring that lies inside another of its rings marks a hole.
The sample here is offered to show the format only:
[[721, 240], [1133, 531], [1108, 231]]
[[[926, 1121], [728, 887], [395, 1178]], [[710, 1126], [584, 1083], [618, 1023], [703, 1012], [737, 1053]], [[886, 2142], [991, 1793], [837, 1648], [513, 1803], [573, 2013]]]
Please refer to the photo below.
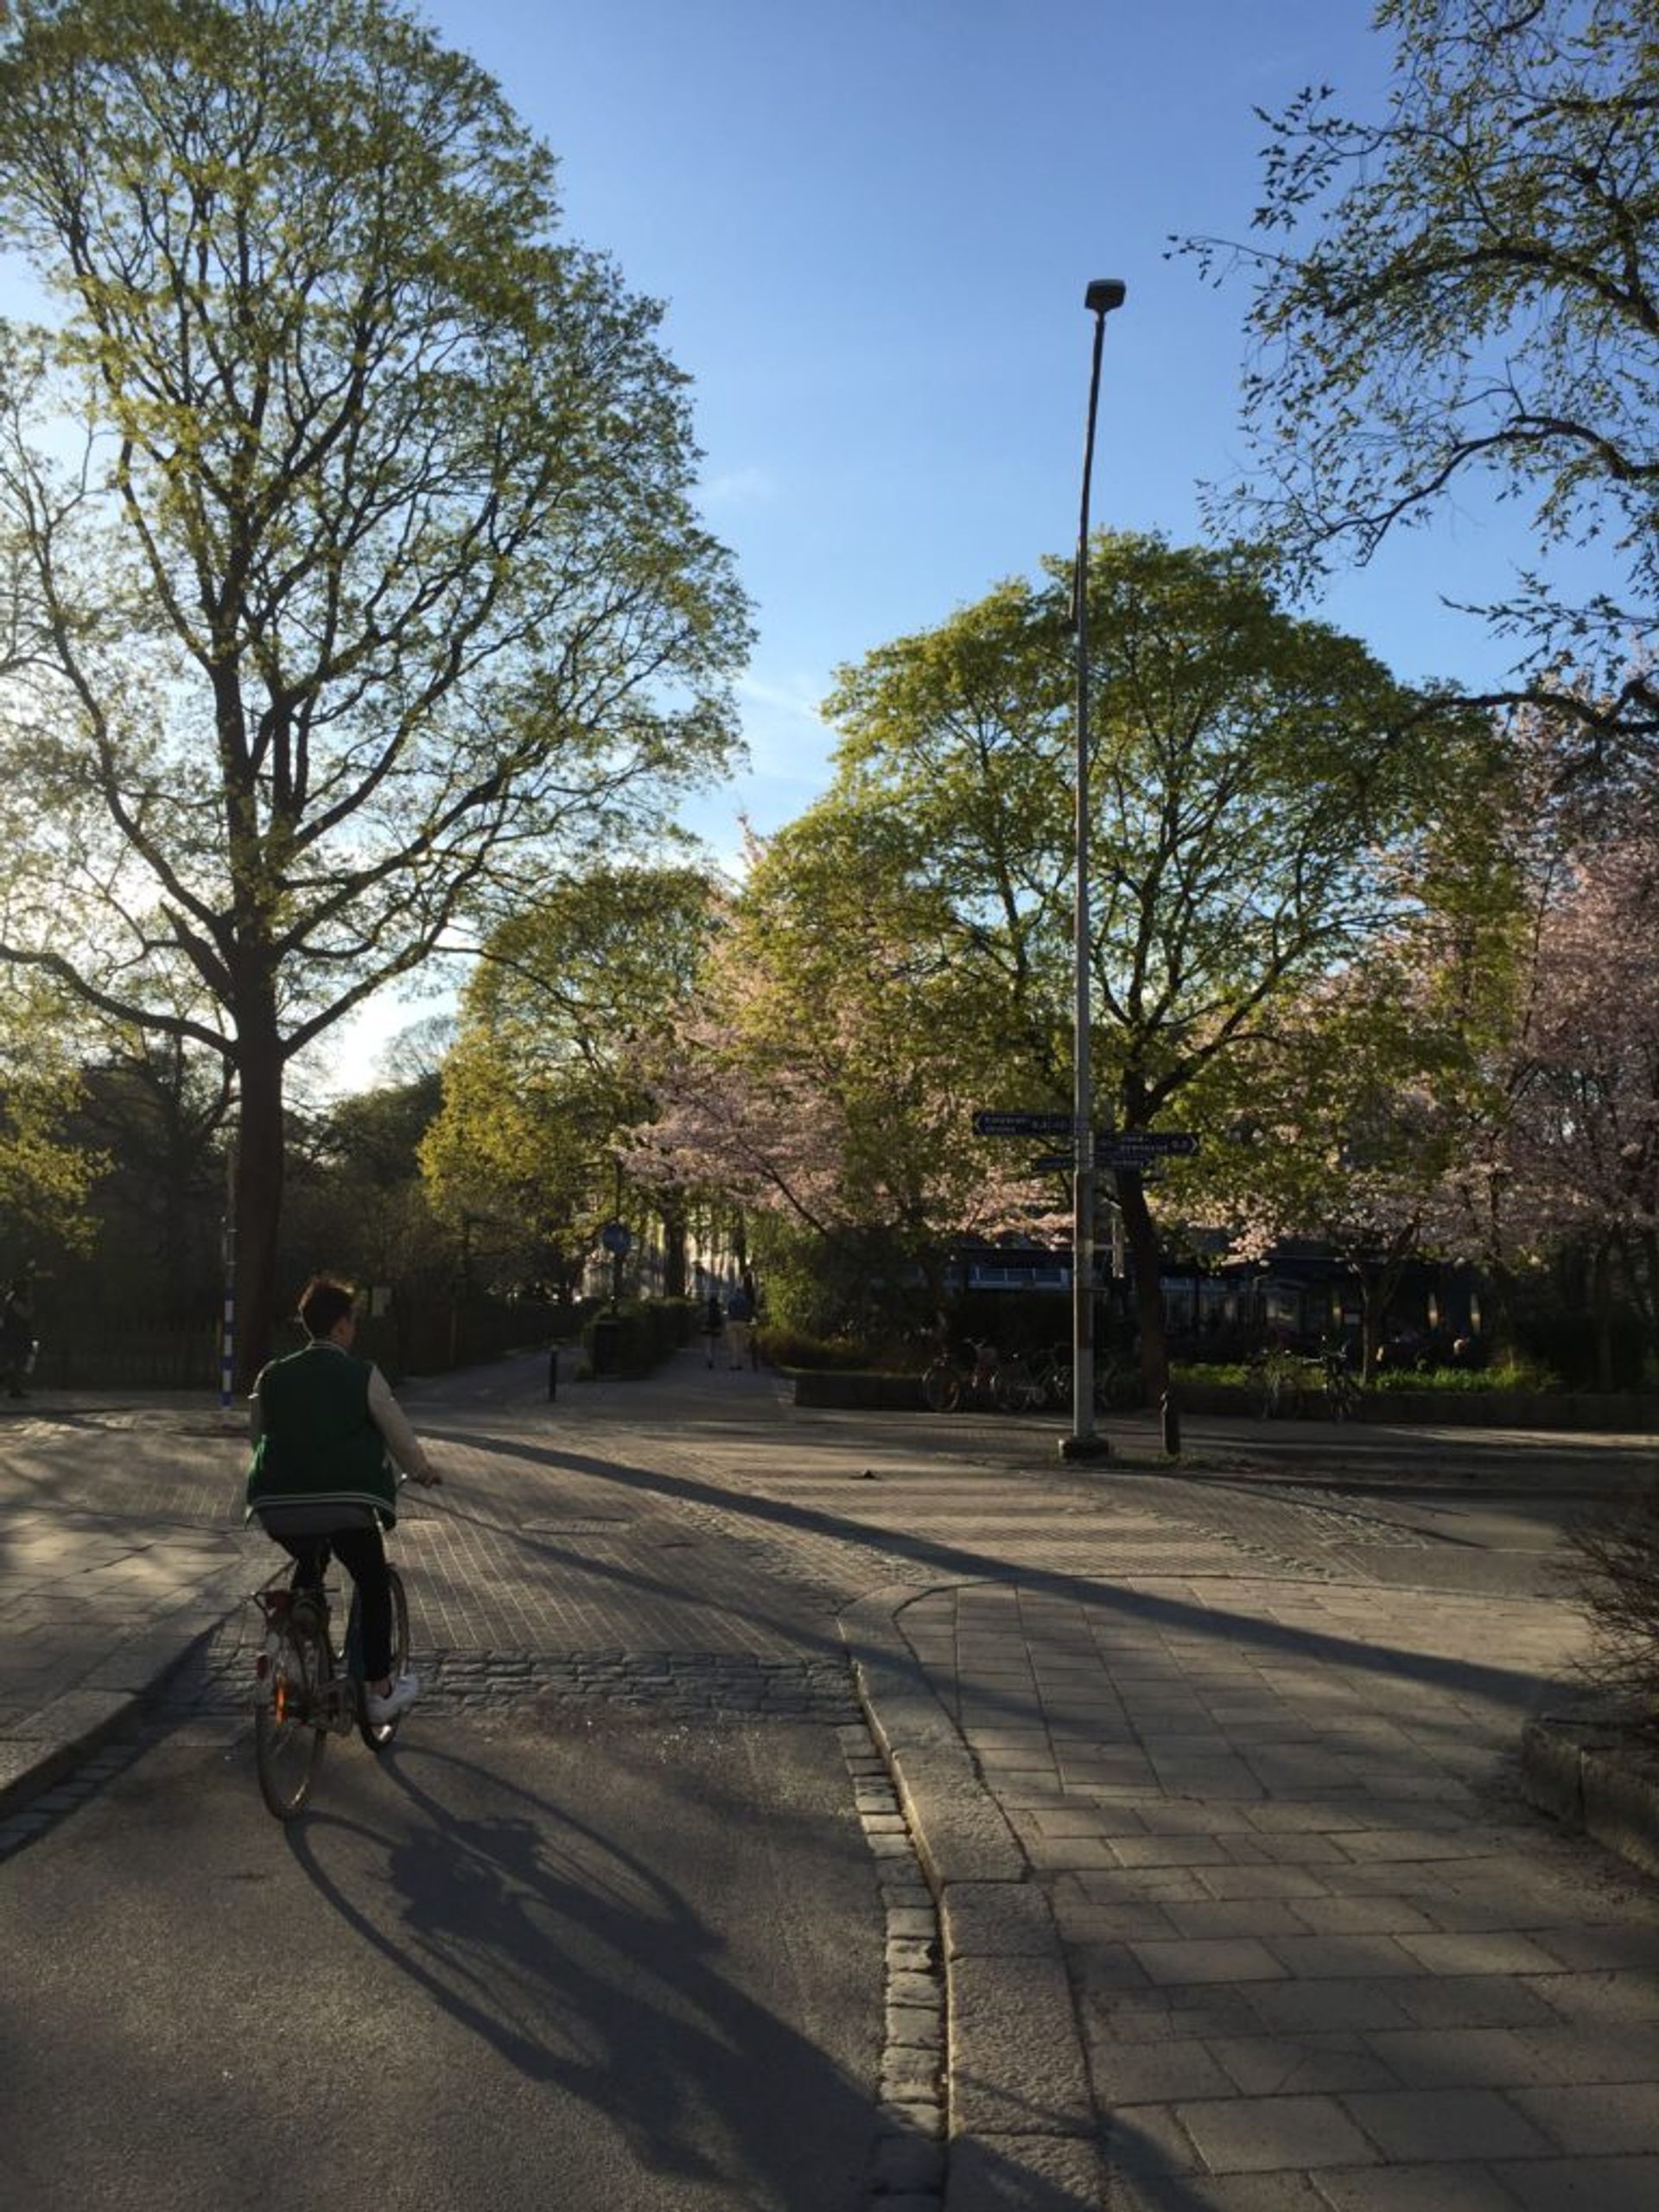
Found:
[[1020, 1843], [933, 1697], [889, 1584], [841, 1615], [858, 1699], [945, 1933], [945, 2212], [1104, 2205], [1066, 1955]]

